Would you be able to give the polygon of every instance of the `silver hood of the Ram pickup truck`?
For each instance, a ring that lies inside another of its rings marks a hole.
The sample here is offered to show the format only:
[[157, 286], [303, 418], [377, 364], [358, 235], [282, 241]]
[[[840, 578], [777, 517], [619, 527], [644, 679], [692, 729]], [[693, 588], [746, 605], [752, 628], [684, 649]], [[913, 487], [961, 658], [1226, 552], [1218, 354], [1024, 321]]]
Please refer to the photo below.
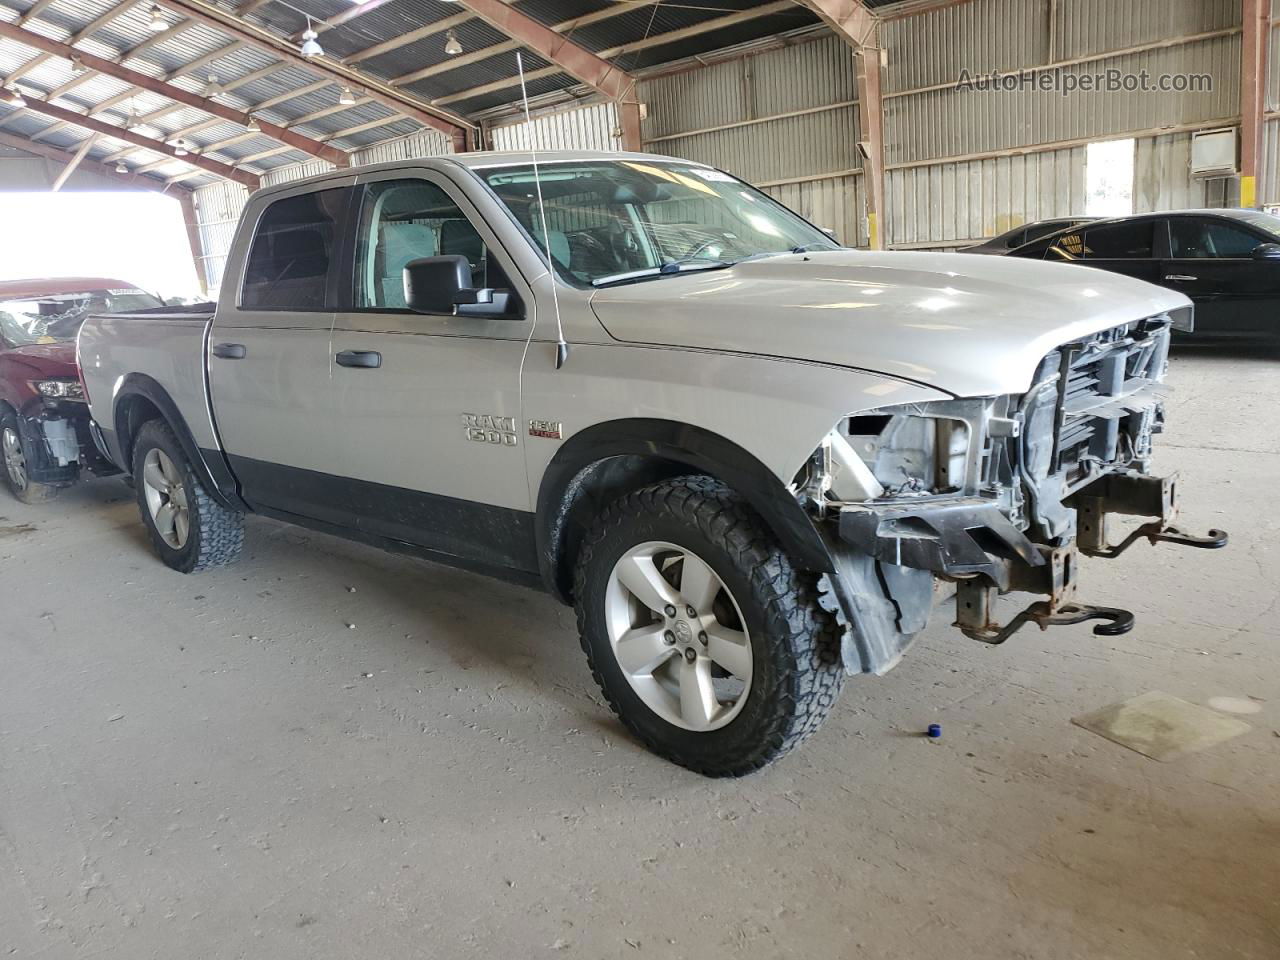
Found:
[[611, 337], [835, 364], [957, 397], [1021, 393], [1055, 347], [1187, 307], [1085, 266], [959, 253], [829, 251], [604, 287]]

